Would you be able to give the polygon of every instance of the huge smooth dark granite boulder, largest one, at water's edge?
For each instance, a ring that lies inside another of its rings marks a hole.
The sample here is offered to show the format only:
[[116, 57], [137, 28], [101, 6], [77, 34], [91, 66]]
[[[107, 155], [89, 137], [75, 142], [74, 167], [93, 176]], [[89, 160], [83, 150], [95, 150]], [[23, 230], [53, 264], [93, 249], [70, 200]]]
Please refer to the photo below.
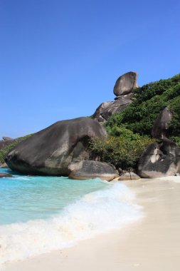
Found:
[[72, 161], [89, 158], [90, 138], [106, 136], [105, 128], [91, 118], [58, 121], [19, 143], [5, 161], [25, 174], [69, 175]]

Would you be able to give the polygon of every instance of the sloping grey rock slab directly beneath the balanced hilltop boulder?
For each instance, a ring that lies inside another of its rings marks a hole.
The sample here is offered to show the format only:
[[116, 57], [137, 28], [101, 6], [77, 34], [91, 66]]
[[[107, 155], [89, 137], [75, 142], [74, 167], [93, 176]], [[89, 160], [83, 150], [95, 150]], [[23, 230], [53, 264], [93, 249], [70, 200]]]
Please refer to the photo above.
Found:
[[103, 123], [107, 121], [107, 118], [112, 116], [112, 114], [123, 111], [130, 103], [132, 103], [132, 93], [121, 96], [116, 101], [101, 103], [92, 117]]

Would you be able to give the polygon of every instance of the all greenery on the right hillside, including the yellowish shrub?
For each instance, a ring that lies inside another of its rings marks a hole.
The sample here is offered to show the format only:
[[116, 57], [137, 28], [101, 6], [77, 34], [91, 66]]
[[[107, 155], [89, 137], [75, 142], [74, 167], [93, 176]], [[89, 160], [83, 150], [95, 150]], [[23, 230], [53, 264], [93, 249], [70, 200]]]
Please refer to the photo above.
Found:
[[173, 113], [169, 138], [180, 145], [180, 74], [134, 89], [125, 111], [108, 118], [108, 140], [92, 140], [92, 153], [122, 169], [136, 168], [144, 148], [154, 142], [151, 131], [159, 112], [166, 106]]

